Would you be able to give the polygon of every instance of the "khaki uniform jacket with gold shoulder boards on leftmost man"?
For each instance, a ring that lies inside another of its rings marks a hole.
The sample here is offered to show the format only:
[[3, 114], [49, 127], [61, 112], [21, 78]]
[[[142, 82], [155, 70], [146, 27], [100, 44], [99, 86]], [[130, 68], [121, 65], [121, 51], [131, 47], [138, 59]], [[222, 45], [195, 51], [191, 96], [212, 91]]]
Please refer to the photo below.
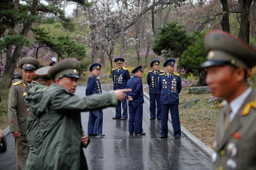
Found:
[[[34, 83], [33, 86], [35, 86]], [[10, 131], [19, 131], [21, 135], [26, 135], [28, 112], [24, 97], [26, 94], [24, 93], [28, 93], [28, 90], [29, 87], [24, 80], [15, 82], [9, 90], [8, 115]]]

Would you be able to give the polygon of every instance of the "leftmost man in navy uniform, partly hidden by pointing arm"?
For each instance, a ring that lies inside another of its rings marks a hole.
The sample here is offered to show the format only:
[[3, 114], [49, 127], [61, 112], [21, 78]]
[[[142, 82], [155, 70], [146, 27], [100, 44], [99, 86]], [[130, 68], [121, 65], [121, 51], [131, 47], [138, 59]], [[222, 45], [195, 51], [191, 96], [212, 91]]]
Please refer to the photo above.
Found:
[[[101, 85], [98, 76], [100, 75], [101, 64], [98, 62], [93, 63], [90, 66], [90, 72], [92, 76], [89, 77], [86, 86], [86, 96], [91, 94], [102, 93]], [[103, 112], [102, 110], [95, 110], [89, 112], [88, 120], [88, 135], [89, 136], [105, 136], [102, 134]]]

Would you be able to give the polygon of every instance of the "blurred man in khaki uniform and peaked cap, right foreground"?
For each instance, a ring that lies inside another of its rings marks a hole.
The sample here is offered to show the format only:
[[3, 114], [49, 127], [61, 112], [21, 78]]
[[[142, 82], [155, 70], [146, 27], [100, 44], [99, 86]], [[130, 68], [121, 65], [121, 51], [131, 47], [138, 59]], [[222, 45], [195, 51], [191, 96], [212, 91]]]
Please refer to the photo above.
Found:
[[256, 51], [226, 32], [206, 35], [206, 82], [214, 97], [223, 97], [214, 142], [214, 169], [256, 169], [256, 94], [248, 88], [247, 69]]

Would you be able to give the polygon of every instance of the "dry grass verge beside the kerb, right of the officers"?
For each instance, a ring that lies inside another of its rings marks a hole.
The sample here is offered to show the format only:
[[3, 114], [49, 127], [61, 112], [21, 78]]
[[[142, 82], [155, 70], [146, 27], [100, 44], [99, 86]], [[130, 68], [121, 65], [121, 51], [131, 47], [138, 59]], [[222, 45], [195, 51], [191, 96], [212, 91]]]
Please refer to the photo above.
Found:
[[[149, 94], [148, 88], [144, 90]], [[211, 94], [188, 94], [188, 89], [182, 89], [179, 94], [180, 104], [193, 98], [199, 98], [199, 102], [191, 109], [179, 107], [180, 123], [190, 133], [212, 148], [215, 140], [216, 125], [218, 120], [218, 105], [207, 105]]]

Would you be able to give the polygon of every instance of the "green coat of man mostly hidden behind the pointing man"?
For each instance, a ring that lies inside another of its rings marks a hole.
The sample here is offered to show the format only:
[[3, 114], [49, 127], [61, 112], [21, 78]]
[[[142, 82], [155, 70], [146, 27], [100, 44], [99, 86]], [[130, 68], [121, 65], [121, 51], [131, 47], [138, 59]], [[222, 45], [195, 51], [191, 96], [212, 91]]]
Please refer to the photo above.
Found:
[[[48, 89], [49, 87], [38, 83], [34, 88], [28, 91], [26, 96], [26, 103], [30, 107], [30, 102], [36, 98], [38, 95], [41, 96], [42, 93]], [[40, 118], [36, 116], [31, 109], [29, 110], [29, 116], [27, 117], [27, 142], [29, 145], [29, 152], [26, 161], [26, 170], [38, 170], [36, 167], [38, 158], [37, 158], [37, 150], [41, 143], [41, 135], [40, 135]]]

